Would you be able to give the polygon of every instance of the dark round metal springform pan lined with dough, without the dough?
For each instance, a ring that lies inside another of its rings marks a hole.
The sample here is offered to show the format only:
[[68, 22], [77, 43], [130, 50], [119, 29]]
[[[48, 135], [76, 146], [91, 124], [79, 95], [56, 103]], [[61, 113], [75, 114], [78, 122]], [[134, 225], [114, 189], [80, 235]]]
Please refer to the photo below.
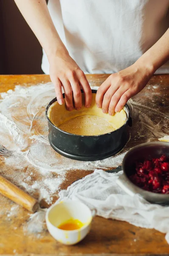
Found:
[[[92, 93], [96, 92], [97, 90], [92, 90]], [[65, 94], [63, 97], [65, 98]], [[82, 161], [101, 160], [117, 154], [127, 143], [127, 126], [132, 125], [130, 108], [127, 104], [124, 106], [127, 120], [123, 126], [107, 134], [82, 136], [62, 131], [51, 123], [48, 118], [48, 109], [56, 100], [56, 98], [53, 99], [47, 106], [46, 117], [48, 119], [49, 143], [59, 154]]]

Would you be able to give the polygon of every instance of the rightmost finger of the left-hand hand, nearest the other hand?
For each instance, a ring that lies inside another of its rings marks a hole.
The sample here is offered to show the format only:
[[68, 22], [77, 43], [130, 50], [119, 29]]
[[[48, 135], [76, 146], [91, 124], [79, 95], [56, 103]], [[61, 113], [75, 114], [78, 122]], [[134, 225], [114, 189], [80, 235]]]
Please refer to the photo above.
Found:
[[85, 93], [85, 107], [90, 108], [92, 103], [92, 90], [90, 88], [89, 82], [87, 81], [87, 78], [83, 73], [83, 71], [80, 74], [80, 77], [78, 78], [79, 78], [80, 86], [82, 87]]

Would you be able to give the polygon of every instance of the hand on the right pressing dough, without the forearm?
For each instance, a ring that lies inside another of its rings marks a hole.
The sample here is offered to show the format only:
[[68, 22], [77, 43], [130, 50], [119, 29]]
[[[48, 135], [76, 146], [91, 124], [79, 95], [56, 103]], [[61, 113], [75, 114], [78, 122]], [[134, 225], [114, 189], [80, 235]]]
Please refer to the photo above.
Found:
[[110, 75], [99, 87], [96, 104], [103, 113], [121, 111], [127, 101], [139, 93], [153, 74], [152, 67], [135, 62], [130, 67]]

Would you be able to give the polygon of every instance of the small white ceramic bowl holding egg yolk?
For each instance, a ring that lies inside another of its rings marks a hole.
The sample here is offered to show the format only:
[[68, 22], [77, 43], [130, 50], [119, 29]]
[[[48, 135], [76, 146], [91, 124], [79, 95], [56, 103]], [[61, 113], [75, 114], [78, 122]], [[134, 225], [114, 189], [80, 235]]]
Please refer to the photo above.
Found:
[[[62, 244], [77, 244], [85, 238], [90, 231], [91, 221], [96, 215], [96, 210], [90, 210], [79, 201], [64, 201], [55, 203], [46, 212], [46, 224], [51, 236]], [[69, 219], [78, 219], [84, 223], [77, 230], [61, 230], [58, 226]]]

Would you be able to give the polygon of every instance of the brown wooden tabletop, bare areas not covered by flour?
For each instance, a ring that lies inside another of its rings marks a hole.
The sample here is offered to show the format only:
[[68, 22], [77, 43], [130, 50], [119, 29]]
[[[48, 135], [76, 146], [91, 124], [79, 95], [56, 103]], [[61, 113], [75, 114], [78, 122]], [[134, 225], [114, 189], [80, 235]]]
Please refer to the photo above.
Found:
[[[108, 75], [87, 75], [90, 85], [100, 85]], [[17, 84], [37, 84], [50, 81], [46, 75], [31, 76], [0, 76], [0, 93], [14, 89]], [[156, 90], [153, 94], [152, 91]], [[152, 96], [151, 96], [152, 95]], [[146, 88], [133, 97], [138, 101], [139, 108], [142, 100], [146, 100], [145, 111], [155, 107], [156, 117], [160, 114], [169, 113], [169, 75], [153, 76]], [[139, 103], [140, 102], [140, 103]], [[156, 118], [155, 117], [155, 118]], [[168, 116], [169, 117], [169, 116]], [[131, 131], [131, 140], [128, 147], [141, 143], [141, 136], [135, 134], [137, 121], [135, 117]], [[154, 117], [152, 116], [152, 119]], [[166, 118], [161, 124], [161, 132], [169, 134], [169, 119]], [[157, 134], [153, 134], [150, 140], [158, 140]], [[3, 157], [0, 158], [1, 166], [4, 164]], [[62, 184], [61, 189], [66, 189], [73, 181], [84, 177], [91, 171], [72, 170], [68, 174], [67, 181]], [[56, 198], [55, 198], [56, 200]], [[10, 200], [0, 195], [0, 208], [10, 211], [14, 206]], [[41, 205], [42, 206], [42, 205]], [[45, 206], [45, 204], [44, 204]], [[6, 212], [5, 211], [5, 212]], [[6, 214], [0, 216], [0, 255], [168, 255], [169, 245], [165, 241], [165, 235], [156, 231], [132, 226], [126, 222], [108, 220], [95, 217], [89, 235], [75, 246], [64, 246], [55, 241], [45, 230], [40, 238], [34, 235], [25, 236], [23, 224], [29, 218], [26, 210], [20, 207], [17, 215], [6, 218]], [[17, 228], [16, 228], [17, 227]]]

